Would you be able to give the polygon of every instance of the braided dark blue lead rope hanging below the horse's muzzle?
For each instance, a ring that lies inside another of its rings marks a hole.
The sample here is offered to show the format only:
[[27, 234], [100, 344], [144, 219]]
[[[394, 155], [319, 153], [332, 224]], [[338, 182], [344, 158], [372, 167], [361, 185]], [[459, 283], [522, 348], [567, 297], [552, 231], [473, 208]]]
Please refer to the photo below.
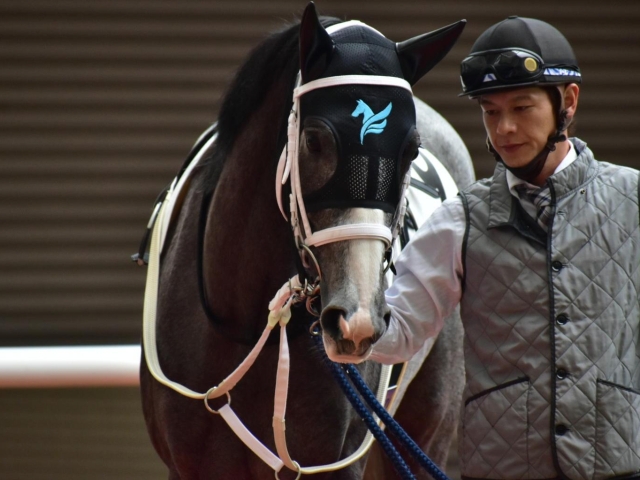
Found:
[[[324, 350], [324, 346], [322, 345], [322, 339], [319, 335], [314, 335], [314, 339], [319, 346], [320, 351], [322, 351], [323, 358], [325, 363], [331, 369], [333, 376], [337, 380], [338, 384], [344, 391], [347, 399], [356, 410], [358, 415], [364, 420], [367, 427], [375, 437], [375, 439], [380, 443], [380, 446], [385, 451], [394, 468], [400, 475], [403, 480], [412, 480], [416, 477], [411, 473], [409, 467], [406, 462], [398, 452], [398, 450], [393, 446], [389, 437], [384, 433], [384, 431], [378, 426], [378, 423], [373, 418], [373, 415], [367, 407], [364, 405], [358, 394], [353, 389], [355, 385], [360, 395], [366, 400], [374, 413], [382, 420], [382, 422], [386, 425], [389, 431], [394, 435], [394, 437], [401, 442], [405, 448], [409, 451], [411, 456], [418, 461], [418, 463], [431, 475], [435, 480], [449, 480], [449, 477], [438, 468], [438, 466], [433, 463], [433, 461], [422, 451], [422, 449], [413, 441], [407, 432], [405, 432], [402, 427], [394, 420], [394, 418], [389, 415], [389, 412], [378, 402], [378, 399], [373, 394], [371, 389], [364, 382], [362, 377], [360, 376], [360, 372], [351, 364], [338, 364], [332, 362]], [[345, 374], [346, 372], [346, 374]], [[349, 380], [351, 382], [349, 382]]]

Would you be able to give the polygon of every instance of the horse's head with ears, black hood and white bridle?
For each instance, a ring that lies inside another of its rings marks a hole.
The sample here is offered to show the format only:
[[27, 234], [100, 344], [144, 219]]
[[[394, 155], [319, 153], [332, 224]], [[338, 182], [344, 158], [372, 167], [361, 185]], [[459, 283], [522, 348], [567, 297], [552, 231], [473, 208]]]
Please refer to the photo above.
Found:
[[388, 324], [384, 259], [420, 145], [411, 85], [463, 28], [395, 43], [360, 22], [325, 29], [313, 3], [303, 14], [291, 214], [303, 263], [321, 270], [320, 322], [335, 361], [364, 360]]

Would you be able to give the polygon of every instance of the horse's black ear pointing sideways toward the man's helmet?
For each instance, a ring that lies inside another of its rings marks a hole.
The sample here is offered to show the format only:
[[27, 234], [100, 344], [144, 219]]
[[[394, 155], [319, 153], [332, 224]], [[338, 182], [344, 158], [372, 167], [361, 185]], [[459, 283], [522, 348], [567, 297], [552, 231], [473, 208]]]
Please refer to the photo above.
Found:
[[442, 60], [464, 30], [466, 20], [396, 43], [396, 52], [407, 82], [415, 84]]

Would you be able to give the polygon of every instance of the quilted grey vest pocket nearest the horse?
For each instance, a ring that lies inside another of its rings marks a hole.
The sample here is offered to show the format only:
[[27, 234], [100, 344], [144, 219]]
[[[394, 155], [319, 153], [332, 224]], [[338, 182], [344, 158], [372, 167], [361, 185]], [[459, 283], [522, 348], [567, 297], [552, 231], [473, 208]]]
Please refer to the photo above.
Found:
[[462, 427], [462, 475], [523, 478], [527, 472], [529, 379], [519, 378], [468, 398]]

